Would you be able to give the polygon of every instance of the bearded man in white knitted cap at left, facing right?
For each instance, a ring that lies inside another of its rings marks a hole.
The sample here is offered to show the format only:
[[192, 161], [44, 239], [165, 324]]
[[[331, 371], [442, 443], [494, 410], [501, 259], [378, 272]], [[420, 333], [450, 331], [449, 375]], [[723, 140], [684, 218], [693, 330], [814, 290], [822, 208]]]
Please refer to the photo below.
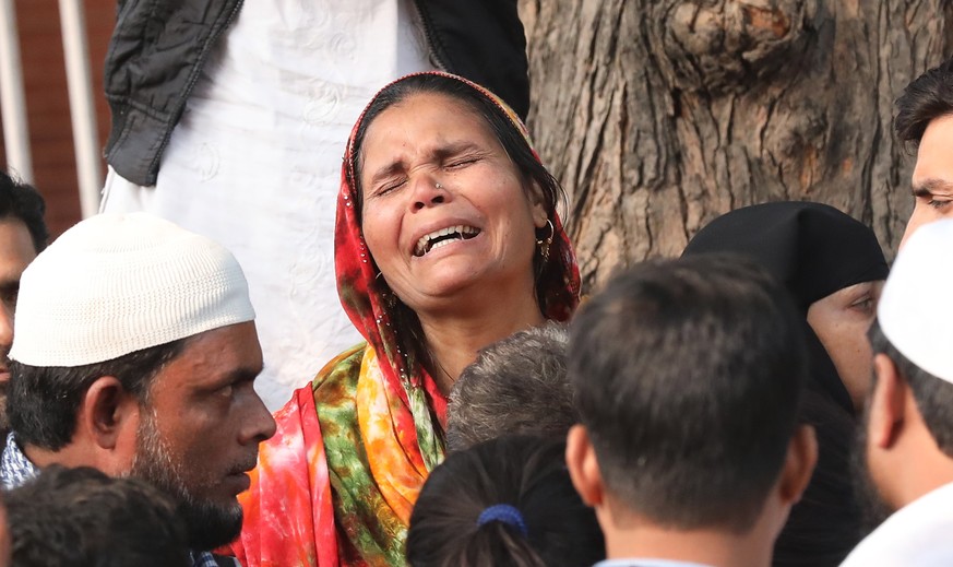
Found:
[[221, 245], [142, 213], [70, 228], [24, 271], [10, 352], [4, 487], [95, 466], [177, 499], [196, 566], [241, 529], [275, 423], [241, 268]]

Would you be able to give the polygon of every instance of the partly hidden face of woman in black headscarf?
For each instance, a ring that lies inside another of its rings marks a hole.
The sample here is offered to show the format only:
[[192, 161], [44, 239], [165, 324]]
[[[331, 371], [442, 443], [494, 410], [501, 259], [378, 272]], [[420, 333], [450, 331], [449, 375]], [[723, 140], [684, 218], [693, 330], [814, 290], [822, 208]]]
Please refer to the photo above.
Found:
[[867, 330], [877, 315], [883, 280], [845, 287], [808, 308], [808, 323], [837, 369], [858, 414], [870, 386], [872, 354]]

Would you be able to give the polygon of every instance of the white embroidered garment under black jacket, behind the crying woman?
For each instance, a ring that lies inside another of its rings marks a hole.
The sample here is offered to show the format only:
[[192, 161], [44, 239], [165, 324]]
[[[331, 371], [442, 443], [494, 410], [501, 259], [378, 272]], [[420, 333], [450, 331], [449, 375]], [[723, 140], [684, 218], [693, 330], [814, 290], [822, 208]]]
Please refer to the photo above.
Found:
[[410, 0], [252, 0], [212, 54], [156, 186], [109, 170], [103, 210], [147, 211], [225, 245], [264, 350], [255, 388], [283, 405], [361, 340], [337, 297], [344, 146], [385, 83], [433, 69]]

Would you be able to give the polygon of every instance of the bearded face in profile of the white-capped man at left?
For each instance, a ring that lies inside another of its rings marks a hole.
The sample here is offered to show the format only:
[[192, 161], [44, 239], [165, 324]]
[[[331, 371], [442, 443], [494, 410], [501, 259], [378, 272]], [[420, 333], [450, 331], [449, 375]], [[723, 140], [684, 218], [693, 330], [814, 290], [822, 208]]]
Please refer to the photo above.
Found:
[[190, 545], [211, 550], [241, 531], [237, 495], [275, 422], [253, 389], [262, 369], [254, 323], [189, 339], [153, 379], [130, 471], [172, 497]]

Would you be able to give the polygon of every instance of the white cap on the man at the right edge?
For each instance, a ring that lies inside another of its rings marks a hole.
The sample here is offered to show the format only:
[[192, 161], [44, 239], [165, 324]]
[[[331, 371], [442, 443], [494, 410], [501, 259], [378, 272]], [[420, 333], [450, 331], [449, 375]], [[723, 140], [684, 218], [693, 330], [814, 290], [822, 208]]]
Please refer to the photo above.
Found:
[[917, 228], [883, 286], [877, 319], [909, 362], [953, 382], [953, 220]]

